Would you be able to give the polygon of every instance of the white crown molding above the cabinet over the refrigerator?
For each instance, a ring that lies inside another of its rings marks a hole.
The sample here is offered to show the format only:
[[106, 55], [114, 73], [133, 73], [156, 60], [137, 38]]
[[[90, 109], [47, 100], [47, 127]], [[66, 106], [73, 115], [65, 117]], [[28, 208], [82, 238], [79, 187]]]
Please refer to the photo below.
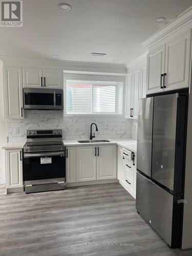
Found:
[[176, 32], [177, 30], [183, 28], [184, 26], [191, 23], [192, 28], [192, 6], [190, 6], [186, 11], [181, 13], [163, 28], [159, 29], [156, 33], [148, 37], [146, 40], [142, 42], [142, 45], [150, 48], [153, 46], [157, 41], [160, 41], [167, 37], [168, 35]]

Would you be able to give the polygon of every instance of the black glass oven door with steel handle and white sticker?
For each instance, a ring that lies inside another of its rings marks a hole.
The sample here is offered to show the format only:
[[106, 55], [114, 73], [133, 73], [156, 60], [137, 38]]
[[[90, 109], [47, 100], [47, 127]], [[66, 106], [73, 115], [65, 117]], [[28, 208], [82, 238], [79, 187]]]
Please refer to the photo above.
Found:
[[24, 153], [24, 185], [65, 182], [65, 152]]

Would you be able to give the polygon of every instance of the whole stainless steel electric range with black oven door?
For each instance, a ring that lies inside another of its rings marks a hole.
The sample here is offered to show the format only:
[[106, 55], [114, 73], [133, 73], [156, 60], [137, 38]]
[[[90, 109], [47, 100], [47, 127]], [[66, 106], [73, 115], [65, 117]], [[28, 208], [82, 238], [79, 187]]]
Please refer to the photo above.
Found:
[[24, 145], [25, 193], [65, 189], [62, 130], [29, 130]]

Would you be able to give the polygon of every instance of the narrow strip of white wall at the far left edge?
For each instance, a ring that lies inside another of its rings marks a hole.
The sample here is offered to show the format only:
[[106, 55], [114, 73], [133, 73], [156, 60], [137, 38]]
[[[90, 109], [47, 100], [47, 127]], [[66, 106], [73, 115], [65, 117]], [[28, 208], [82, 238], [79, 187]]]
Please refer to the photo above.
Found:
[[0, 183], [5, 181], [5, 150], [2, 146], [7, 142], [7, 120], [4, 111], [3, 63], [0, 61]]

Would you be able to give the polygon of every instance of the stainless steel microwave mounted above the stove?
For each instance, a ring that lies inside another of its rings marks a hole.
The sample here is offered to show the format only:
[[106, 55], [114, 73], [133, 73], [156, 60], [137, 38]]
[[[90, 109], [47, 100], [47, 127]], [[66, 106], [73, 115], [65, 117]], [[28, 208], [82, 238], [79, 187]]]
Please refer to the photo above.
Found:
[[62, 110], [63, 90], [24, 88], [25, 110]]

